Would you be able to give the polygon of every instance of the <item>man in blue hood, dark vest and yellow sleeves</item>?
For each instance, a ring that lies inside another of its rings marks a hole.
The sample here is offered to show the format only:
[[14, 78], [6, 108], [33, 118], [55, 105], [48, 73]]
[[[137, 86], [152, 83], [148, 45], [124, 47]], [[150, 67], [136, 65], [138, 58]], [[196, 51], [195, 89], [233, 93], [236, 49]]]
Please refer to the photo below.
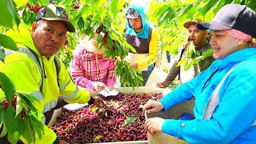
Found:
[[159, 32], [155, 26], [146, 21], [145, 10], [140, 2], [131, 3], [124, 18], [127, 18], [126, 41], [137, 52], [129, 50], [125, 59], [134, 69], [142, 72], [142, 83], [145, 86], [157, 60]]

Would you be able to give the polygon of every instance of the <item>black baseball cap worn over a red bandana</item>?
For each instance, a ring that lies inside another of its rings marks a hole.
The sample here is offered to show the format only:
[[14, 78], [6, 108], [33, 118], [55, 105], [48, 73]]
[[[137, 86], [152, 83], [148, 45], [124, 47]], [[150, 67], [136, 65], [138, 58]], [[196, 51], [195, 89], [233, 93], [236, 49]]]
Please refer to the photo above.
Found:
[[256, 38], [256, 13], [245, 5], [223, 6], [210, 22], [198, 22], [199, 30], [235, 29]]

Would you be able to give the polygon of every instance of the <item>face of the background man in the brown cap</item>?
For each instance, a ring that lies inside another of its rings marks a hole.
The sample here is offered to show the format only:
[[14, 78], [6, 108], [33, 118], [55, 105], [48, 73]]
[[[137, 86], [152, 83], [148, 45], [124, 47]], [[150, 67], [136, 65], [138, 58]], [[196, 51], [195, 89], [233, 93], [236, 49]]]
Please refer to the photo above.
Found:
[[188, 28], [188, 38], [193, 40], [194, 46], [202, 46], [206, 43], [206, 30], [198, 30], [196, 24], [191, 24]]

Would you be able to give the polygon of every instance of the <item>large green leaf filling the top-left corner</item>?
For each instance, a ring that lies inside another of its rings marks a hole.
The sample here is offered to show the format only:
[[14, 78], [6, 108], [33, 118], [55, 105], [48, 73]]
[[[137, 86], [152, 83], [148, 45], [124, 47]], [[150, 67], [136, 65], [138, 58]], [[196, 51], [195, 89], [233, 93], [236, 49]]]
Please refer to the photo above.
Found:
[[6, 1], [0, 1], [0, 25], [13, 27], [13, 16], [10, 13], [9, 7], [6, 6]]

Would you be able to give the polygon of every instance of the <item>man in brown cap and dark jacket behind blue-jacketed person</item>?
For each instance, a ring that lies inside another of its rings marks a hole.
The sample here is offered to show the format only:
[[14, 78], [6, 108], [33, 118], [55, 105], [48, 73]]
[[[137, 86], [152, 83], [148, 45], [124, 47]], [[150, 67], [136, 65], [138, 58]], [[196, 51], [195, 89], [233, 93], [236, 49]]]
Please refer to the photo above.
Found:
[[[165, 88], [170, 85], [171, 82], [174, 81], [174, 79], [178, 75], [178, 79], [181, 83], [187, 82], [190, 79], [194, 78], [200, 71], [206, 70], [212, 62], [214, 62], [213, 57], [207, 57], [204, 58], [202, 61], [198, 62], [194, 66], [192, 66], [192, 69], [189, 70], [189, 72], [182, 73], [182, 66], [178, 66], [178, 62], [182, 60], [182, 58], [186, 58], [186, 49], [188, 46], [190, 46], [190, 42], [194, 43], [195, 50], [199, 52], [200, 55], [202, 55], [207, 50], [211, 50], [212, 47], [210, 46], [209, 41], [207, 40], [207, 31], [206, 30], [198, 30], [196, 24], [198, 22], [202, 22], [200, 19], [195, 19], [193, 21], [185, 22], [184, 27], [188, 30], [187, 32], [187, 40], [184, 42], [182, 46], [181, 52], [178, 54], [178, 60], [174, 60], [174, 64], [169, 70], [169, 74], [167, 75], [164, 82], [157, 82], [157, 86], [160, 88]], [[194, 56], [193, 56], [194, 57]], [[190, 77], [190, 78], [186, 78]], [[183, 80], [186, 79], [186, 80]]]

